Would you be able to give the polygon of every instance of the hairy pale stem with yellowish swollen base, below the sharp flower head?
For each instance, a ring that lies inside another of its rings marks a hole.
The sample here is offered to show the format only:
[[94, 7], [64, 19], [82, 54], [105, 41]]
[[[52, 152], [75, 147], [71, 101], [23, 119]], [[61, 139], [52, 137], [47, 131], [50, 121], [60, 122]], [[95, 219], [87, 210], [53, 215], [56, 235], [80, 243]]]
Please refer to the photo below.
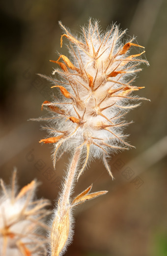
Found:
[[68, 241], [72, 239], [70, 235], [72, 230], [70, 221], [70, 196], [75, 182], [80, 152], [81, 150], [78, 149], [74, 153], [67, 178], [64, 182], [63, 190], [58, 201], [51, 232], [52, 256], [59, 256], [62, 250], [66, 247]]

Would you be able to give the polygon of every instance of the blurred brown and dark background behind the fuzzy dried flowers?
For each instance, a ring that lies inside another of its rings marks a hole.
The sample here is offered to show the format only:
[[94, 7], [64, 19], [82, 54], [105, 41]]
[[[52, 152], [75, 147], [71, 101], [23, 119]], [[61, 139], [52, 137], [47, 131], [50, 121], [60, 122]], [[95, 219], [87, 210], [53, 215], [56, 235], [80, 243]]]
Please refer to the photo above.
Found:
[[[60, 48], [58, 21], [71, 32], [89, 17], [103, 30], [113, 22], [128, 28], [145, 46], [150, 66], [142, 65], [136, 86], [143, 101], [127, 120], [137, 148], [112, 157], [109, 177], [95, 161], [76, 185], [75, 194], [93, 183], [107, 195], [75, 210], [75, 235], [66, 256], [167, 256], [167, 0], [5, 0], [0, 3], [0, 177], [10, 182], [14, 166], [19, 186], [41, 181], [38, 196], [54, 199], [67, 156], [53, 168], [52, 145], [40, 145], [41, 103], [51, 99], [50, 75]], [[44, 112], [45, 113], [45, 112]]]

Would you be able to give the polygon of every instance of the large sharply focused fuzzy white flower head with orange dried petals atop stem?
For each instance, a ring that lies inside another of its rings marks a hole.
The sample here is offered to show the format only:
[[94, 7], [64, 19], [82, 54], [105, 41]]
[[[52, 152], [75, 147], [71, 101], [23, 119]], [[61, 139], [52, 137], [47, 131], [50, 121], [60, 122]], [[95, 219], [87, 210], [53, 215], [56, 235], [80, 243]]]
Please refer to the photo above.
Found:
[[123, 44], [121, 39], [126, 31], [119, 31], [116, 25], [102, 33], [98, 23], [90, 20], [78, 37], [59, 24], [65, 32], [61, 46], [63, 37], [70, 41], [70, 58], [60, 55], [57, 61], [51, 61], [61, 68], [53, 72], [59, 74], [60, 80], [41, 75], [53, 82], [52, 88], [59, 90], [60, 97], [42, 104], [51, 112], [51, 117], [40, 119], [49, 121], [46, 128], [51, 137], [40, 142], [54, 143], [54, 165], [57, 153], [81, 148], [84, 162], [79, 176], [92, 157], [102, 158], [112, 177], [107, 156], [132, 147], [123, 134], [123, 128], [130, 123], [123, 118], [139, 106], [130, 101], [143, 99], [132, 96], [144, 88], [132, 86], [132, 82], [141, 70], [137, 68], [139, 64], [148, 64], [140, 58], [145, 51], [130, 55], [130, 49], [144, 47], [133, 43], [135, 38]]

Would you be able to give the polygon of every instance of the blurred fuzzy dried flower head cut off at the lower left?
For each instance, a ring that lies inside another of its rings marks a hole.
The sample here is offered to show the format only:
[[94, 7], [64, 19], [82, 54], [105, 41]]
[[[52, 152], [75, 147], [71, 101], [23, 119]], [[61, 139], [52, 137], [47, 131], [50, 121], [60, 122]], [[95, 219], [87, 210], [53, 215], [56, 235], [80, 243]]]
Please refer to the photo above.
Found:
[[47, 225], [42, 220], [51, 212], [46, 199], [33, 200], [37, 182], [33, 180], [16, 193], [16, 170], [11, 188], [0, 180], [0, 256], [46, 255], [46, 237], [41, 234]]

